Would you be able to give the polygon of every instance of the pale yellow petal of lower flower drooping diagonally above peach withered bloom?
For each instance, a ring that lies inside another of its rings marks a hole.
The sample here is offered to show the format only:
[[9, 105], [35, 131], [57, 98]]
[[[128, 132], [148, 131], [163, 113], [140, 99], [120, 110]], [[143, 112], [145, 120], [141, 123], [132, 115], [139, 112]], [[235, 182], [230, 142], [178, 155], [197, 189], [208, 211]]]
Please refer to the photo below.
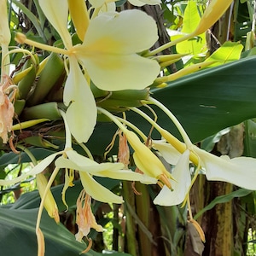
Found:
[[84, 190], [96, 201], [113, 202], [116, 204], [123, 202], [121, 196], [113, 194], [113, 192], [103, 187], [100, 183], [97, 183], [87, 172], [79, 172], [79, 174]]

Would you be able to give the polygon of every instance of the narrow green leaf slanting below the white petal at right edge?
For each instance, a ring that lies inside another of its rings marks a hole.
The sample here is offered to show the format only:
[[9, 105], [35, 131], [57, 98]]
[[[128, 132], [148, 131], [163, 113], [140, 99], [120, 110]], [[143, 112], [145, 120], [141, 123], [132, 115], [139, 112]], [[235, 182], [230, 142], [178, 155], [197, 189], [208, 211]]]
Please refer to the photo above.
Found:
[[217, 204], [223, 204], [225, 202], [231, 201], [235, 197], [246, 196], [252, 192], [253, 191], [247, 189], [238, 189], [236, 191], [231, 192], [230, 194], [217, 196], [210, 204], [207, 205], [207, 207], [204, 207], [200, 212], [197, 212], [194, 218], [196, 220], [201, 216], [201, 214], [207, 212], [208, 210], [211, 210]]

